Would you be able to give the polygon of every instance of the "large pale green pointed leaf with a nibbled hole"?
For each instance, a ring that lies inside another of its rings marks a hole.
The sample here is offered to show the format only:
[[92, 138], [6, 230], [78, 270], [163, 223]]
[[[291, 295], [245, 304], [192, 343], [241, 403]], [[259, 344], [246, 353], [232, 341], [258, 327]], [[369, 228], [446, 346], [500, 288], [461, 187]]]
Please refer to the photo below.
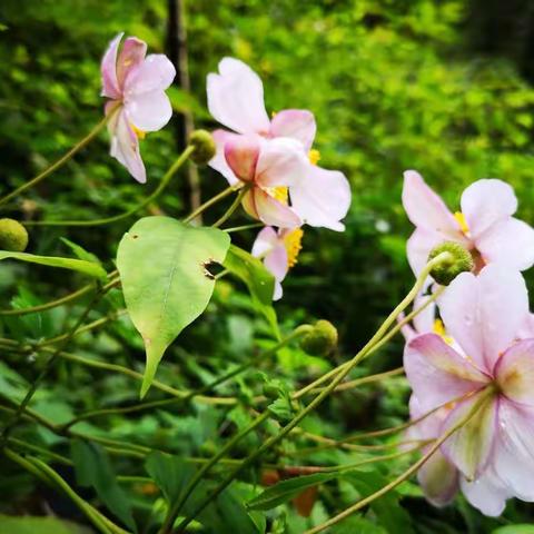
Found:
[[117, 267], [126, 306], [141, 334], [147, 367], [145, 396], [167, 347], [207, 307], [230, 238], [217, 228], [195, 228], [169, 217], [138, 220], [119, 245]]

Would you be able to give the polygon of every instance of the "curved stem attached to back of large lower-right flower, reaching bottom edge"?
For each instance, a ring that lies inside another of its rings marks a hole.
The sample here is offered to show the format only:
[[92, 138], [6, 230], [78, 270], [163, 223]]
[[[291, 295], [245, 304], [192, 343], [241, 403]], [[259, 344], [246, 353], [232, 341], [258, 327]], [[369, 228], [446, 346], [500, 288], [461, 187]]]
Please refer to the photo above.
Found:
[[462, 426], [464, 426], [466, 423], [468, 423], [472, 417], [474, 417], [476, 415], [476, 413], [487, 402], [488, 397], [491, 395], [494, 395], [494, 393], [495, 393], [494, 389], [492, 387], [488, 387], [482, 394], [478, 402], [472, 407], [472, 409], [469, 409], [468, 414], [465, 417], [462, 417], [461, 421], [458, 421], [445, 434], [443, 434], [438, 439], [436, 439], [434, 442], [434, 444], [431, 446], [431, 448], [421, 457], [421, 459], [418, 459], [414, 465], [408, 467], [404, 473], [402, 473], [399, 476], [397, 476], [389, 484], [386, 484], [384, 487], [382, 487], [377, 492], [373, 493], [368, 497], [365, 497], [362, 501], [358, 501], [356, 504], [353, 504], [353, 506], [349, 506], [347, 510], [345, 510], [340, 514], [337, 514], [336, 516], [332, 517], [330, 520], [326, 521], [322, 525], [318, 525], [314, 528], [310, 528], [310, 530], [306, 531], [304, 534], [317, 534], [319, 532], [323, 532], [324, 530], [339, 523], [344, 518], [354, 514], [358, 510], [362, 510], [364, 506], [367, 506], [373, 501], [376, 501], [377, 498], [382, 497], [386, 493], [390, 492], [392, 490], [397, 487], [399, 484], [402, 484], [404, 481], [407, 481], [412, 475], [417, 473], [417, 471], [431, 458], [431, 456], [443, 445], [443, 443], [445, 443], [455, 432], [457, 432]]

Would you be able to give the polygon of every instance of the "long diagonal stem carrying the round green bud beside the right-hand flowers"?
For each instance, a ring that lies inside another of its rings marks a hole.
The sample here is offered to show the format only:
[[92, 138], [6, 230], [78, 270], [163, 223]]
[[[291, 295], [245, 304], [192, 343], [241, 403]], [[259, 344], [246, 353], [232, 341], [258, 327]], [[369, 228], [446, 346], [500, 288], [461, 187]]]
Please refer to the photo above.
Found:
[[[383, 325], [378, 328], [376, 334], [369, 339], [369, 342], [359, 350], [356, 356], [346, 365], [338, 375], [333, 379], [328, 387], [326, 387], [322, 393], [319, 393], [304, 409], [301, 409], [280, 432], [268, 438], [260, 445], [254, 453], [251, 453], [247, 458], [243, 461], [243, 463], [235, 468], [222, 482], [205, 498], [200, 502], [199, 505], [195, 507], [195, 510], [186, 516], [185, 520], [179, 524], [178, 532], [184, 532], [187, 525], [195, 518], [197, 515], [210, 503], [214, 498], [217, 497], [238, 475], [239, 473], [254, 464], [258, 457], [260, 457], [267, 449], [271, 446], [276, 445], [279, 441], [281, 441], [287, 434], [289, 434], [293, 428], [295, 428], [300, 421], [303, 421], [309, 413], [312, 413], [335, 388], [340, 382], [345, 378], [348, 373], [355, 367], [367, 354], [367, 352], [386, 334], [388, 328], [395, 322], [397, 316], [404, 312], [404, 309], [409, 306], [409, 304], [414, 300], [414, 298], [419, 293], [421, 288], [423, 287], [428, 274], [439, 265], [442, 261], [449, 260], [451, 255], [448, 253], [443, 253], [436, 256], [434, 259], [428, 261], [428, 264], [423, 268], [422, 273], [417, 277], [417, 280], [414, 284], [414, 287], [409, 290], [406, 297], [398, 304], [398, 306], [389, 314]], [[172, 523], [170, 524], [170, 526]], [[162, 533], [169, 532], [169, 524], [167, 524], [167, 530], [162, 528]]]

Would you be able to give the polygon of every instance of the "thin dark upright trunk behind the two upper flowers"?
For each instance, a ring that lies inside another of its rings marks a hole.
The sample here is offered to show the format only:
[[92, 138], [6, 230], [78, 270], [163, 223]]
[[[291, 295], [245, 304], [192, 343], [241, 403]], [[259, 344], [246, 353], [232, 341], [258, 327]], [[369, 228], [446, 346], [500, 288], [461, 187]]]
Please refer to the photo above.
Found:
[[[186, 6], [185, 0], [168, 0], [168, 50], [169, 58], [176, 68], [176, 80], [180, 89], [190, 92], [189, 62], [187, 57], [187, 30], [186, 30]], [[195, 129], [192, 116], [185, 111], [177, 116], [177, 146], [181, 151], [187, 146], [187, 140]], [[195, 165], [187, 166], [189, 204], [191, 210], [200, 206], [200, 179]], [[201, 219], [197, 219], [201, 222]]]

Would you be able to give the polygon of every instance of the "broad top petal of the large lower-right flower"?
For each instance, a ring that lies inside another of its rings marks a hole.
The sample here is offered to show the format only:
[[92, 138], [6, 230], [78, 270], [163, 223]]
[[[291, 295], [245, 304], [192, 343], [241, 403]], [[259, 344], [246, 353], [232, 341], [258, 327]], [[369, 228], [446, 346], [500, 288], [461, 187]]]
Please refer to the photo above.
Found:
[[447, 332], [481, 369], [493, 372], [528, 314], [521, 273], [492, 264], [475, 277], [459, 275], [439, 297]]

